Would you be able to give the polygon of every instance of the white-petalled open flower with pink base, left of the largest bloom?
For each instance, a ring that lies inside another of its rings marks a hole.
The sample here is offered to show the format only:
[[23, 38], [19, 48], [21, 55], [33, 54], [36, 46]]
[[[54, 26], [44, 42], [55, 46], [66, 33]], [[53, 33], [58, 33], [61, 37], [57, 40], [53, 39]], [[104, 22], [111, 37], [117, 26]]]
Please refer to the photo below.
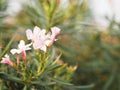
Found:
[[26, 56], [25, 51], [26, 51], [26, 50], [30, 50], [30, 49], [31, 49], [30, 46], [31, 46], [31, 44], [25, 45], [24, 40], [20, 40], [20, 43], [18, 44], [18, 49], [11, 49], [10, 52], [11, 52], [12, 54], [15, 54], [15, 53], [17, 53], [17, 54], [23, 53], [24, 56]]

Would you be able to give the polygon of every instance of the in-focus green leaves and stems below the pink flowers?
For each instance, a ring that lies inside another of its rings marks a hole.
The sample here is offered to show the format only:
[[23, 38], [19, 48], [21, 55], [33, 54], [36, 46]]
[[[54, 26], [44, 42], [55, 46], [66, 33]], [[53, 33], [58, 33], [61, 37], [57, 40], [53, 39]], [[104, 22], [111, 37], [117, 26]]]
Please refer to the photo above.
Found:
[[[49, 56], [49, 54], [52, 55]], [[60, 64], [58, 56], [54, 60], [54, 50], [48, 53], [37, 50], [30, 53], [29, 57], [17, 56], [12, 67], [3, 66], [0, 70], [1, 89], [9, 90], [62, 90], [64, 87], [75, 87], [70, 82], [71, 75], [74, 73], [74, 67], [68, 67], [66, 64]], [[32, 56], [33, 57], [32, 57]], [[28, 55], [27, 55], [28, 56]], [[52, 56], [52, 57], [51, 57]], [[12, 57], [12, 60], [15, 57]], [[20, 59], [20, 61], [18, 61]], [[85, 88], [90, 88], [87, 86]]]

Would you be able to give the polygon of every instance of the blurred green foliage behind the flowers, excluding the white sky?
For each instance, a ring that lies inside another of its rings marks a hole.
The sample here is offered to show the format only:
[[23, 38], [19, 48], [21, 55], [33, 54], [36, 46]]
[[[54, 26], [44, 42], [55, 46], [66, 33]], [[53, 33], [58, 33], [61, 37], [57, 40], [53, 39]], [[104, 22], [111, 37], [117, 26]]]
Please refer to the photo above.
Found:
[[[94, 88], [86, 90], [119, 90], [120, 24], [109, 20], [108, 28], [98, 28], [91, 24], [94, 17], [86, 0], [68, 0], [69, 3], [62, 5], [61, 1], [28, 1], [18, 15], [12, 17], [14, 23], [2, 24], [0, 30], [19, 32], [20, 35], [26, 28], [36, 25], [48, 31], [50, 27], [58, 26], [62, 33], [55, 48], [63, 52], [61, 59], [64, 62], [78, 65], [72, 82], [75, 85], [95, 84]], [[9, 33], [8, 36], [12, 35]], [[3, 43], [7, 42], [5, 38], [2, 35]]]

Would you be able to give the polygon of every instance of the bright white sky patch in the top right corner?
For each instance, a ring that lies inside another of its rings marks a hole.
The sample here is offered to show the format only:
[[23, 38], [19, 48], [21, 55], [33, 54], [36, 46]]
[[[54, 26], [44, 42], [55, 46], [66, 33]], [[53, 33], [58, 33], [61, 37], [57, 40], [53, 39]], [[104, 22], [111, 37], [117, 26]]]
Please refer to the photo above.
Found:
[[107, 26], [109, 23], [105, 19], [114, 17], [115, 21], [120, 22], [120, 0], [90, 0], [89, 4], [96, 22]]

